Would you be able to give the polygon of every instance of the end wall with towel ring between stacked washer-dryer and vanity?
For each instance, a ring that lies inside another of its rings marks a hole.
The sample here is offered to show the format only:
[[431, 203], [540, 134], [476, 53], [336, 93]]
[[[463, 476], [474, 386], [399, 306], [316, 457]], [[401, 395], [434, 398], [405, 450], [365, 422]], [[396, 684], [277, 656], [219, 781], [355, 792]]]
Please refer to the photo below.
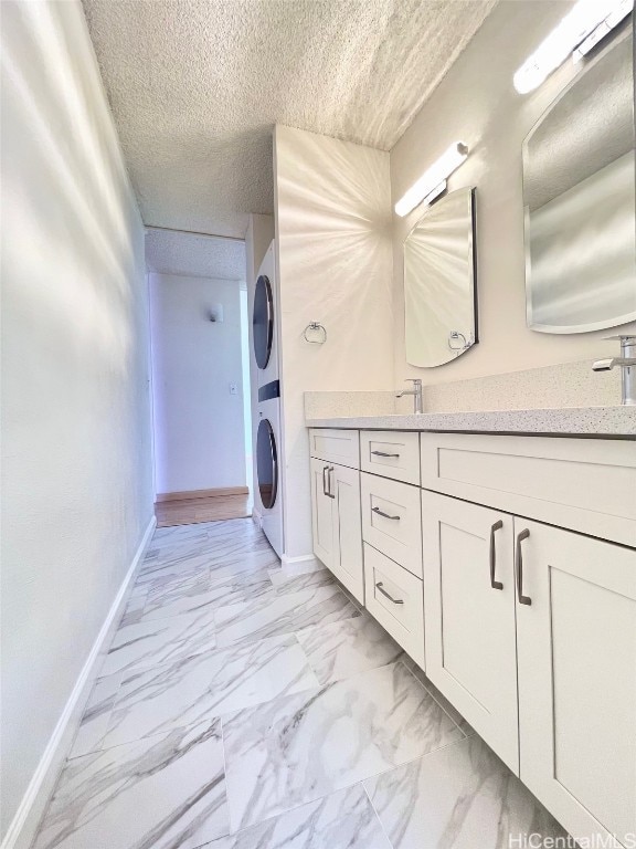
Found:
[[[389, 154], [277, 126], [285, 554], [311, 552], [306, 390], [393, 387]], [[327, 328], [309, 345], [311, 321]]]

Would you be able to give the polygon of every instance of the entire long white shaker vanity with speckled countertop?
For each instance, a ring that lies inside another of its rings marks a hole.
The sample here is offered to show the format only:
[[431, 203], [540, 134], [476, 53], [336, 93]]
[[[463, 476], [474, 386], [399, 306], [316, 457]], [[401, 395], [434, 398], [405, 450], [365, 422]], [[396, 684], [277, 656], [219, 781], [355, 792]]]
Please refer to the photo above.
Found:
[[603, 416], [309, 420], [314, 551], [575, 838], [627, 846], [636, 442]]

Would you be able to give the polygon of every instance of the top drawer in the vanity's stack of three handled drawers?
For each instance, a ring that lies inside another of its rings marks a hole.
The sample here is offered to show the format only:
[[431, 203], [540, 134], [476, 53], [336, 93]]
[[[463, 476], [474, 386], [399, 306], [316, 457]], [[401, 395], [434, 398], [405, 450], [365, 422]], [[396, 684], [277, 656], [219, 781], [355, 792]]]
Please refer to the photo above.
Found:
[[418, 485], [418, 434], [399, 430], [361, 431], [360, 468], [364, 472]]

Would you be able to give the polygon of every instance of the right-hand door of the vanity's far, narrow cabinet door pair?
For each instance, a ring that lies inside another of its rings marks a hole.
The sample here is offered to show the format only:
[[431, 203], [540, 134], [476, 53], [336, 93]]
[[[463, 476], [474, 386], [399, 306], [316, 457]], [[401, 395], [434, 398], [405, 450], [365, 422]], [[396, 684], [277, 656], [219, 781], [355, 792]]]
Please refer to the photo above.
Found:
[[333, 560], [331, 572], [347, 589], [364, 604], [362, 567], [362, 523], [360, 518], [360, 472], [331, 465], [329, 492], [333, 504]]

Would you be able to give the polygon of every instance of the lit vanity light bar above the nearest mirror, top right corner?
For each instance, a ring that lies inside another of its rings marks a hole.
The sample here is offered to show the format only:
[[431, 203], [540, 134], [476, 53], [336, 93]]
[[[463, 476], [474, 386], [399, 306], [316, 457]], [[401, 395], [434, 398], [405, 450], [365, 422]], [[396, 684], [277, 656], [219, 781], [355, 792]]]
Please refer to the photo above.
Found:
[[[519, 94], [537, 88], [576, 48], [592, 50], [634, 9], [634, 0], [579, 0], [513, 77]], [[600, 32], [596, 34], [596, 30]], [[592, 40], [592, 35], [594, 39]], [[583, 54], [584, 54], [583, 53]], [[576, 56], [581, 57], [581, 55]]]

